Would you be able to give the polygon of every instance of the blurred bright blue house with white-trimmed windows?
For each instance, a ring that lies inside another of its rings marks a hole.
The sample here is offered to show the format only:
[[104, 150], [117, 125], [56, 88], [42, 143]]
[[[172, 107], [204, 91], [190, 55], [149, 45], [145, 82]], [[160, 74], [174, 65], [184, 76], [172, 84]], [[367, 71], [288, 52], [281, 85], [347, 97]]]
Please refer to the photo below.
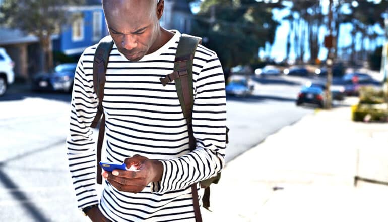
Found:
[[93, 2], [97, 4], [68, 8], [69, 16], [75, 20], [62, 27], [59, 38], [54, 40], [54, 51], [77, 58], [85, 48], [98, 43], [102, 37], [109, 34], [101, 2]]

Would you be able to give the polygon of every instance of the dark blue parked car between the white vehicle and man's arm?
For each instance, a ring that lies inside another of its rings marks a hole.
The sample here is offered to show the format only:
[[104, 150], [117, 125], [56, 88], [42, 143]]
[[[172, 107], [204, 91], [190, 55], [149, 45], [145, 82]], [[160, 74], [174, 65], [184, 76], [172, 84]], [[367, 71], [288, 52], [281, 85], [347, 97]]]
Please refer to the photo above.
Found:
[[64, 63], [48, 73], [38, 74], [33, 78], [33, 90], [72, 92], [77, 63]]

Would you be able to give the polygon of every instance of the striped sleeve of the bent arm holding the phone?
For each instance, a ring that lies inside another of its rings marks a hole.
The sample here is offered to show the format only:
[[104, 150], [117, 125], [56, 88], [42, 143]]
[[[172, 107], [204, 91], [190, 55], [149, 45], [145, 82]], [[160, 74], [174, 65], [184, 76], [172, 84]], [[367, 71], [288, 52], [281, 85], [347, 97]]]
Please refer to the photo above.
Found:
[[203, 66], [195, 85], [192, 126], [195, 150], [178, 158], [162, 160], [163, 176], [152, 183], [155, 193], [183, 189], [215, 176], [224, 166], [226, 137], [225, 79], [215, 53]]

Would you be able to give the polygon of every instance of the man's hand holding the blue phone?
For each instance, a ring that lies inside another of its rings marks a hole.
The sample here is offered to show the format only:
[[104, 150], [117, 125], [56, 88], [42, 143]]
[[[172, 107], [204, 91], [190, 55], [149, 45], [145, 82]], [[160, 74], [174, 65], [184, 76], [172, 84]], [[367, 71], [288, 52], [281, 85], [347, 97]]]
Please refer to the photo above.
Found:
[[158, 160], [134, 155], [124, 160], [130, 170], [104, 171], [102, 176], [119, 191], [139, 193], [149, 183], [162, 180], [163, 165]]

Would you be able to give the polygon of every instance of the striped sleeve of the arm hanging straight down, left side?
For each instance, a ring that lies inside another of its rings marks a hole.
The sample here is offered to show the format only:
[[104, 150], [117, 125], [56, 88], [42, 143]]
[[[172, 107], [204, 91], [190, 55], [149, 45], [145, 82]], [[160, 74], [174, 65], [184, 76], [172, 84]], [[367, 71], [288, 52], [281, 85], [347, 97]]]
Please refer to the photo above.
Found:
[[78, 208], [98, 203], [96, 186], [96, 143], [90, 125], [97, 112], [92, 75], [86, 75], [84, 54], [78, 62], [71, 101], [70, 132], [67, 137], [69, 169]]

